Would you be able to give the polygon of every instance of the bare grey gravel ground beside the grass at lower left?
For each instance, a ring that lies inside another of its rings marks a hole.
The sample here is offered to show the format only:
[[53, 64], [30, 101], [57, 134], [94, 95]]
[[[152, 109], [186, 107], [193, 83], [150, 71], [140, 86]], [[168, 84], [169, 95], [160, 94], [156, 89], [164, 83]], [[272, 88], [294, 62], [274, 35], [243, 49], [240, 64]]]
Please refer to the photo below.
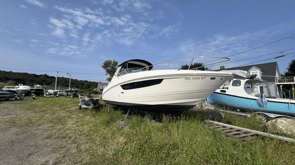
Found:
[[0, 165], [75, 164], [74, 144], [57, 138], [42, 122], [26, 122], [34, 113], [0, 100]]

